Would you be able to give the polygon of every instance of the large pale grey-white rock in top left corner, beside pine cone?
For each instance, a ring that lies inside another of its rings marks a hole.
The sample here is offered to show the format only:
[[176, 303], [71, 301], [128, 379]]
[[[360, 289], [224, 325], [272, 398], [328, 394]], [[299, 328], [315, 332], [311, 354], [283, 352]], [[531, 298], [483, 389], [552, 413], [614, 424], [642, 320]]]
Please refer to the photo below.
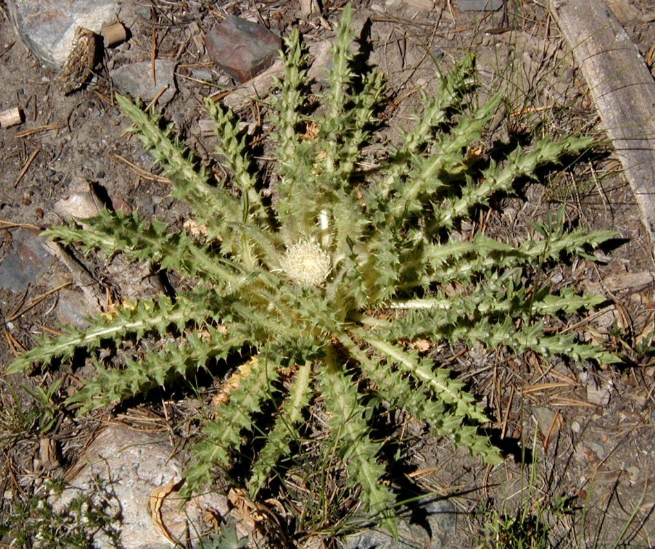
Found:
[[19, 37], [39, 60], [55, 70], [66, 65], [75, 33], [85, 28], [99, 34], [117, 19], [117, 0], [9, 0]]

